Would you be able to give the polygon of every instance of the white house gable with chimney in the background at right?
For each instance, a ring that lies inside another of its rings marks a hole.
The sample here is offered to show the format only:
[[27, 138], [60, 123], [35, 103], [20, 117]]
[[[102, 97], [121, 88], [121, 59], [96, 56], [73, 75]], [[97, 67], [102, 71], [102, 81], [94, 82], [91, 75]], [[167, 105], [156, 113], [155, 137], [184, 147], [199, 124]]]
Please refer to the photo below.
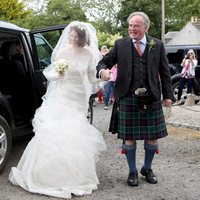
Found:
[[200, 17], [192, 17], [180, 31], [165, 34], [165, 45], [200, 44]]

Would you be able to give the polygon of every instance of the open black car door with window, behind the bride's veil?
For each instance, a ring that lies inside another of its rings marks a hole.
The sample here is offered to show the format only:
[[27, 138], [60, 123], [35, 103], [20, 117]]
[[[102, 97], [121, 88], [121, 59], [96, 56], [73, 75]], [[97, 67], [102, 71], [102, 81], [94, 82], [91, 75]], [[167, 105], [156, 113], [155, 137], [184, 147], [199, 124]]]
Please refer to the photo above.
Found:
[[36, 108], [40, 106], [41, 97], [44, 95], [47, 86], [43, 70], [51, 63], [53, 48], [65, 27], [66, 25], [61, 25], [30, 31], [34, 63], [34, 89], [37, 99]]

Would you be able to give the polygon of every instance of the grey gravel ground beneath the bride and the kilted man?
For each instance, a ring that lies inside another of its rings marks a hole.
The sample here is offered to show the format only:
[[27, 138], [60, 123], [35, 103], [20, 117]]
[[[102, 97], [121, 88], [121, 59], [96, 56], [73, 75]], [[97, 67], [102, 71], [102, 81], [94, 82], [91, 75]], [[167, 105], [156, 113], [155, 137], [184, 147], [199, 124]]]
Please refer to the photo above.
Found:
[[[107, 131], [111, 110], [104, 110], [103, 105], [97, 104], [94, 107], [94, 126], [103, 133], [108, 148], [102, 153], [97, 163], [100, 185], [92, 195], [73, 197], [73, 200], [199, 200], [200, 132], [195, 130], [197, 126], [200, 126], [200, 112], [196, 112], [199, 108], [190, 107], [189, 111], [180, 106], [172, 107], [171, 116], [167, 119], [169, 135], [159, 140], [160, 154], [155, 155], [153, 162], [158, 184], [148, 184], [139, 175], [139, 186], [129, 187], [126, 184], [128, 176], [126, 158], [120, 153], [121, 141], [116, 139], [116, 135]], [[195, 117], [192, 118], [193, 115]], [[185, 121], [187, 124], [181, 127]], [[175, 126], [170, 125], [173, 123]], [[186, 126], [191, 129], [185, 128]], [[20, 148], [24, 148], [25, 145], [26, 143]], [[139, 141], [137, 146], [138, 170], [142, 167], [143, 159], [143, 141]], [[13, 161], [9, 163], [5, 172], [0, 176], [0, 200], [57, 199], [31, 194], [12, 186], [7, 176], [10, 166], [16, 165], [17, 162], [16, 160], [14, 163]]]

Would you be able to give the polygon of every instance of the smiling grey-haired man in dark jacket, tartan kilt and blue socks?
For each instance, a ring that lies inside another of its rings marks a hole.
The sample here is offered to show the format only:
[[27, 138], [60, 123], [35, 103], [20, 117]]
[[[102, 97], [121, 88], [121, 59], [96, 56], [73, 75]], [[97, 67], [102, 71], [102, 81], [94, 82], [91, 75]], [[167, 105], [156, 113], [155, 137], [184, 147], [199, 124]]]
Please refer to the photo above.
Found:
[[158, 152], [157, 139], [167, 136], [162, 105], [171, 106], [171, 76], [164, 44], [147, 34], [149, 17], [143, 12], [134, 12], [128, 17], [128, 23], [129, 37], [117, 40], [100, 60], [97, 76], [109, 80], [110, 69], [117, 64], [116, 100], [109, 131], [123, 140], [122, 150], [129, 166], [127, 184], [139, 184], [136, 140], [144, 140], [145, 158], [140, 173], [148, 183], [156, 184], [151, 165]]

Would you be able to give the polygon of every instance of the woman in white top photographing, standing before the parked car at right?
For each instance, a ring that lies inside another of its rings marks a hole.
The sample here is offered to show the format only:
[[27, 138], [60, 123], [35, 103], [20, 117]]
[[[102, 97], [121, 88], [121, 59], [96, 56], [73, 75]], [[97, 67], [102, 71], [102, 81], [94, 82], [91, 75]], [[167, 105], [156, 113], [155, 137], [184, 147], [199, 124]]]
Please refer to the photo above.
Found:
[[190, 49], [187, 52], [181, 66], [183, 69], [181, 71], [181, 79], [178, 86], [178, 97], [177, 101], [173, 104], [174, 106], [182, 104], [181, 95], [186, 84], [188, 96], [192, 93], [192, 87], [195, 79], [195, 67], [197, 66], [197, 59], [193, 49]]

